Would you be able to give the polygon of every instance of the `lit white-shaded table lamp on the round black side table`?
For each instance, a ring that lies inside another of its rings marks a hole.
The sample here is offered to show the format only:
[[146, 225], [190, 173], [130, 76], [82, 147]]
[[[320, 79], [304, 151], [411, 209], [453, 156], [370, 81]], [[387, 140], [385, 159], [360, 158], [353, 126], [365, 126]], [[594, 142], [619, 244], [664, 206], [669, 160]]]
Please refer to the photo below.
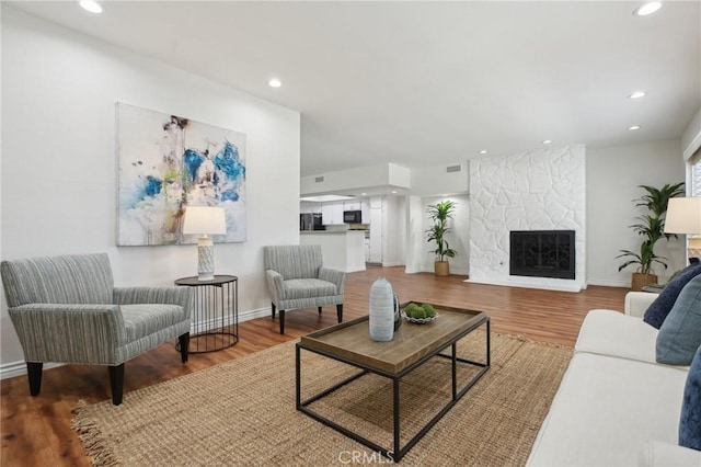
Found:
[[197, 242], [197, 276], [199, 281], [215, 278], [215, 246], [208, 235], [227, 232], [227, 217], [222, 207], [187, 206], [183, 234], [200, 235]]

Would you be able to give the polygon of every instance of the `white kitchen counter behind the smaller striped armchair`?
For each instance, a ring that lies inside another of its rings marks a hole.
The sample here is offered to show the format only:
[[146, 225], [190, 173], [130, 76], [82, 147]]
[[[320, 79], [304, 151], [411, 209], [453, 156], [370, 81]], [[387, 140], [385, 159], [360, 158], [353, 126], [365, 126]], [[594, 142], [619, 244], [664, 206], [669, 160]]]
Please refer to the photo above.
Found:
[[300, 244], [320, 244], [324, 266], [341, 271], [365, 271], [364, 230], [302, 230]]

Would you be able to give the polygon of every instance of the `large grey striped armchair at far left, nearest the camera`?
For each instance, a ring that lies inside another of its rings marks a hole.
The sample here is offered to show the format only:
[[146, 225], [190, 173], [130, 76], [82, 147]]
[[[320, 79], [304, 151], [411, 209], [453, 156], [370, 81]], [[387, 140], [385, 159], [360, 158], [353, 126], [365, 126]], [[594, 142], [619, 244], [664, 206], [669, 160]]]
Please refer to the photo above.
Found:
[[179, 338], [187, 362], [189, 287], [115, 287], [104, 253], [2, 261], [0, 272], [32, 396], [44, 362], [106, 365], [115, 406], [126, 361]]

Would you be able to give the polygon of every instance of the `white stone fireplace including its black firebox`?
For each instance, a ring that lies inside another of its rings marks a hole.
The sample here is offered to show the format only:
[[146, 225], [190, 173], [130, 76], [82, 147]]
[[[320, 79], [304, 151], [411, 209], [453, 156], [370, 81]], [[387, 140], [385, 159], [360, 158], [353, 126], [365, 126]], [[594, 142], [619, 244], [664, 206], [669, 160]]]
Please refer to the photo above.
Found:
[[571, 145], [470, 161], [470, 282], [586, 287], [585, 159]]

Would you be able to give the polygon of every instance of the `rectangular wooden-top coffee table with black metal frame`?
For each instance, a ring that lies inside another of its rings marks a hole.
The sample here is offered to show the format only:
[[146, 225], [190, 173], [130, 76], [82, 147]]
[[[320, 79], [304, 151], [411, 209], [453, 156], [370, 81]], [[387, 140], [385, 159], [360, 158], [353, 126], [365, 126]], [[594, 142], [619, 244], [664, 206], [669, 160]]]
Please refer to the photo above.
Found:
[[[406, 304], [402, 305], [402, 308]], [[302, 337], [300, 342], [297, 343], [295, 352], [297, 410], [363, 443], [375, 452], [394, 462], [399, 462], [490, 368], [490, 318], [483, 311], [443, 306], [435, 306], [435, 308], [439, 315], [436, 320], [427, 324], [411, 324], [404, 322], [394, 333], [394, 338], [390, 342], [375, 342], [370, 340], [367, 316]], [[481, 326], [486, 327], [484, 362], [473, 362], [458, 357], [456, 349], [457, 342]], [[451, 348], [449, 354], [441, 353], [449, 346]], [[361, 372], [306, 400], [301, 400], [302, 368], [300, 352], [302, 349], [361, 368]], [[401, 446], [400, 381], [409, 373], [433, 357], [450, 358], [452, 361], [452, 397], [418, 433], [409, 440], [404, 446]], [[474, 365], [480, 368], [461, 388], [457, 387], [458, 363]], [[382, 447], [347, 428], [329, 420], [309, 407], [312, 402], [338, 390], [341, 387], [368, 373], [380, 375], [392, 380], [393, 448], [391, 449]]]

